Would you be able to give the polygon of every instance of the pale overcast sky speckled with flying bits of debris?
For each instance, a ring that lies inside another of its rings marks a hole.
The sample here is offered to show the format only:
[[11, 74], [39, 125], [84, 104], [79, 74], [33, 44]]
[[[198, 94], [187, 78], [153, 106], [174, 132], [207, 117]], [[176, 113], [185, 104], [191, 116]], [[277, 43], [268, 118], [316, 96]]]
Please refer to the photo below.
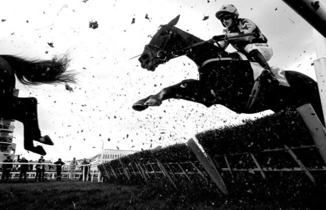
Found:
[[[252, 20], [269, 40], [274, 51], [271, 66], [315, 79], [312, 27], [281, 0], [1, 2], [0, 54], [51, 59], [68, 51], [68, 70], [78, 72], [79, 83], [72, 85], [73, 92], [63, 84], [28, 86], [17, 82], [20, 97], [38, 99], [42, 135], [49, 135], [55, 144], [42, 145], [45, 159], [95, 156], [103, 142], [104, 149], [165, 147], [185, 143], [198, 132], [272, 114], [237, 114], [219, 105], [206, 108], [174, 99], [143, 112], [132, 110], [134, 102], [149, 94], [183, 79], [198, 78], [195, 63], [185, 56], [160, 65], [154, 72], [142, 69], [137, 58], [129, 60], [142, 52], [159, 25], [178, 15], [178, 28], [208, 40], [224, 29], [215, 13], [222, 5], [233, 4], [240, 17]], [[206, 16], [209, 18], [203, 20]], [[90, 21], [97, 21], [98, 28], [89, 28]], [[40, 155], [24, 149], [23, 131], [23, 125], [16, 121], [16, 154], [36, 160]]]

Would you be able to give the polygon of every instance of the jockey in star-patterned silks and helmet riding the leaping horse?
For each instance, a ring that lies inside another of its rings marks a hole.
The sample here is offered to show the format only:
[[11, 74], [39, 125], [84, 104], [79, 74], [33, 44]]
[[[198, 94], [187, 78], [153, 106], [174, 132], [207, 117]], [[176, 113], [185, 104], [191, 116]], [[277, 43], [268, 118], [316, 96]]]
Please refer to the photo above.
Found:
[[[272, 48], [267, 44], [267, 39], [260, 32], [258, 26], [248, 19], [239, 18], [239, 12], [233, 5], [222, 6], [215, 16], [226, 28], [223, 30], [226, 37], [256, 33], [255, 35], [223, 40], [220, 41], [219, 44], [224, 47], [224, 49], [231, 44], [237, 51], [245, 54], [249, 60], [257, 62], [265, 68], [263, 76], [266, 76], [266, 78], [269, 79], [269, 82], [279, 84], [267, 63], [273, 55]], [[220, 37], [221, 36], [214, 36], [213, 39], [218, 40]]]

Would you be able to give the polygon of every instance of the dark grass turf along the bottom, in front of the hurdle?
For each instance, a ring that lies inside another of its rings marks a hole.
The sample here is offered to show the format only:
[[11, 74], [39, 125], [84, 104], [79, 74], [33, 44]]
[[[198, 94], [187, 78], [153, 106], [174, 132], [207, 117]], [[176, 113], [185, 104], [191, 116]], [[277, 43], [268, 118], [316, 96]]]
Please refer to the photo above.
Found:
[[0, 209], [318, 209], [215, 193], [64, 180], [0, 183]]

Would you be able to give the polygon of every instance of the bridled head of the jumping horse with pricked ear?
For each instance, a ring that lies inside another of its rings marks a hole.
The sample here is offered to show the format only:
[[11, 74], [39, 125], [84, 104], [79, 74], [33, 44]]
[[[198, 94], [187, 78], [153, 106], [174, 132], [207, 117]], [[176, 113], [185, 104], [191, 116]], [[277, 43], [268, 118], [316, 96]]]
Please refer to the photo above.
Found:
[[176, 39], [176, 30], [180, 15], [170, 21], [167, 25], [161, 25], [149, 44], [145, 46], [140, 58], [141, 67], [149, 71], [174, 57], [173, 50], [177, 50], [180, 42]]

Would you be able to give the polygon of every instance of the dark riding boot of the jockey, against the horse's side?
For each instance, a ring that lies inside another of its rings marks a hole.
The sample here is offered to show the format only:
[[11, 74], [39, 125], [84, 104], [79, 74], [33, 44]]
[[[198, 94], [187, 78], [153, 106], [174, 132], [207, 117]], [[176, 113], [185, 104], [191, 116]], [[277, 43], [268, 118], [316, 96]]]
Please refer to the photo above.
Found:
[[276, 76], [273, 74], [266, 59], [258, 50], [251, 50], [249, 52], [249, 56], [252, 58], [252, 60], [259, 63], [264, 68], [264, 71], [261, 74], [260, 78], [266, 78], [267, 80], [270, 80], [268, 82], [272, 83], [273, 85], [279, 84], [279, 81], [277, 80]]

